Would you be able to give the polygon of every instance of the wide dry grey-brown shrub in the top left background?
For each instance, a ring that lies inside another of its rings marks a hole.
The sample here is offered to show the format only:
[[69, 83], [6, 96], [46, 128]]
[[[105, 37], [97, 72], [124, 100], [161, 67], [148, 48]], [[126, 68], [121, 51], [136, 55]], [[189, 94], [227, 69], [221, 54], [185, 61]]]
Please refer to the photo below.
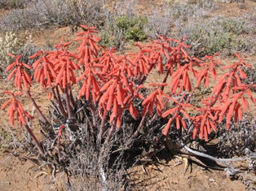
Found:
[[28, 7], [4, 15], [0, 29], [19, 31], [51, 25], [77, 27], [79, 24], [100, 26], [104, 23], [105, 12], [101, 0], [31, 0]]

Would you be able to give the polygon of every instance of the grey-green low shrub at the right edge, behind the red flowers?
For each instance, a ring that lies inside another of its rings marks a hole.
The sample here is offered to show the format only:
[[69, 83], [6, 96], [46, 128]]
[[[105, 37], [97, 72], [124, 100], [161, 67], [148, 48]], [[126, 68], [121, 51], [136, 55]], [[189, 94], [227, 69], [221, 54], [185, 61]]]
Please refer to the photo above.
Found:
[[214, 54], [215, 52], [254, 52], [256, 41], [247, 34], [254, 34], [250, 23], [242, 18], [214, 17], [210, 20], [188, 20], [188, 24], [177, 26], [179, 37], [186, 36], [192, 46], [192, 54]]

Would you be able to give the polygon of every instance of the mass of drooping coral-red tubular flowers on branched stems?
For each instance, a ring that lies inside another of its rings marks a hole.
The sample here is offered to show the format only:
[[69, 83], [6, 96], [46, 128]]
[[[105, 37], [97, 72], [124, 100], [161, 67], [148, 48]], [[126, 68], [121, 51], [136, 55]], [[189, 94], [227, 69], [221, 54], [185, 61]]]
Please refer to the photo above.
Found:
[[[61, 133], [65, 127], [68, 127], [68, 131], [76, 131], [70, 121], [73, 121], [73, 125], [81, 121], [78, 120], [79, 112], [84, 107], [87, 119], [91, 122], [90, 131], [96, 134], [98, 143], [108, 143], [113, 132], [122, 127], [126, 115], [138, 122], [133, 127], [135, 138], [142, 133], [140, 130], [146, 118], [155, 119], [158, 116], [165, 119], [163, 122], [166, 123], [159, 127], [161, 136], [170, 132], [172, 124], [177, 129], [188, 131], [190, 121], [192, 128], [188, 132], [192, 132], [192, 138], [199, 137], [208, 141], [209, 134], [218, 130], [218, 124], [223, 119], [227, 121], [227, 130], [232, 117], [235, 122], [242, 119], [249, 106], [248, 98], [255, 102], [250, 90], [255, 85], [241, 82], [247, 77], [243, 68], [250, 66], [237, 53], [238, 61], [222, 67], [227, 72], [218, 77], [216, 67], [221, 65], [216, 59], [218, 54], [206, 55], [203, 59], [194, 58], [187, 52], [190, 47], [184, 44], [185, 38], [178, 41], [159, 36], [158, 40], [150, 41], [147, 45], [136, 44], [139, 48], [137, 53], [120, 55], [114, 48], [107, 49], [98, 45], [100, 38], [96, 36], [96, 28], [81, 27], [84, 32], [77, 33], [75, 39], [80, 42], [77, 52], [69, 51], [71, 42], [64, 42], [62, 38], [60, 44], [55, 46], [55, 51], [40, 50], [29, 58], [37, 58], [32, 69], [28, 64], [20, 63], [21, 55], [12, 54], [15, 63], [7, 67], [7, 72], [11, 71], [7, 80], [14, 77], [15, 87], [26, 91], [41, 121], [51, 126], [49, 117], [42, 113], [30, 94], [33, 81], [49, 93], [59, 118], [66, 119], [66, 123], [58, 121], [54, 125], [59, 127], [59, 135], [56, 135], [58, 144], [60, 137], [65, 136]], [[28, 70], [33, 70], [33, 78], [29, 76]], [[144, 82], [152, 71], [158, 72], [162, 82], [146, 87]], [[210, 95], [197, 106], [189, 102], [202, 84], [205, 87], [212, 84], [211, 79], [218, 79], [218, 83]], [[73, 95], [77, 87], [77, 95]], [[152, 91], [145, 95], [143, 89]], [[11, 125], [14, 125], [15, 111], [20, 126], [27, 124], [32, 118], [16, 100], [17, 93], [7, 94], [13, 98], [1, 109], [12, 103], [8, 110]], [[80, 104], [79, 108], [77, 103]], [[86, 121], [83, 122], [88, 123]], [[41, 154], [45, 152], [39, 149]]]

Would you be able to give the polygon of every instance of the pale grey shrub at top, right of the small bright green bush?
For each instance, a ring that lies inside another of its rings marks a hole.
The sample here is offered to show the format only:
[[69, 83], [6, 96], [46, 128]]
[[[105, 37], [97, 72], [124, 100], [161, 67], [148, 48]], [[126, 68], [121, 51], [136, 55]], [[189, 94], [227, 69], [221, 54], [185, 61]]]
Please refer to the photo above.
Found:
[[209, 15], [216, 8], [214, 1], [196, 0], [192, 3], [166, 3], [163, 8], [155, 10], [152, 15], [148, 15], [148, 26], [146, 33], [151, 38], [156, 38], [156, 34], [177, 37], [174, 27], [184, 26], [189, 18], [201, 18]]

